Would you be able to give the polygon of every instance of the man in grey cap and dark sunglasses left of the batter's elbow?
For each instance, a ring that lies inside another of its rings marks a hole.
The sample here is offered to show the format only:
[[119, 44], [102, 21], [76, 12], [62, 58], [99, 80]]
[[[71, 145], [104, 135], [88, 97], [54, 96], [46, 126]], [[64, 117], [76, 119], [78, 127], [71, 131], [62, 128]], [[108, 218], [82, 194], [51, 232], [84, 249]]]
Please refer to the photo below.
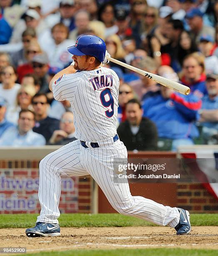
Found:
[[37, 54], [32, 59], [33, 74], [40, 80], [39, 92], [48, 93], [48, 69], [49, 60], [45, 52]]

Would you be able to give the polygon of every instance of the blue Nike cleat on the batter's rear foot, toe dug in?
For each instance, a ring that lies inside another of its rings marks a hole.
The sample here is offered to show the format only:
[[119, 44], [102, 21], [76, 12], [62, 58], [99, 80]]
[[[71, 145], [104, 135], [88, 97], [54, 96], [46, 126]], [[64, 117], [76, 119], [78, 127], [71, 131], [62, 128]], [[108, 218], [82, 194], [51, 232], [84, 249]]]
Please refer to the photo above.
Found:
[[180, 212], [180, 220], [177, 226], [175, 226], [176, 235], [187, 235], [191, 231], [190, 213], [182, 208], [178, 208]]

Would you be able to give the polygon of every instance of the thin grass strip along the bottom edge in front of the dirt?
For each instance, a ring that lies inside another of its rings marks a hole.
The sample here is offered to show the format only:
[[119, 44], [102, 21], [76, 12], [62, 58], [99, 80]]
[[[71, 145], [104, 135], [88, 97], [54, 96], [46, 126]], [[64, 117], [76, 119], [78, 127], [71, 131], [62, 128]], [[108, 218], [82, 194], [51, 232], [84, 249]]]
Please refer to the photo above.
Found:
[[[212, 256], [217, 250], [181, 249], [181, 248], [148, 248], [148, 249], [116, 249], [116, 250], [70, 250], [50, 251], [43, 253], [27, 253], [20, 255], [33, 256]], [[218, 251], [217, 251], [218, 253]]]

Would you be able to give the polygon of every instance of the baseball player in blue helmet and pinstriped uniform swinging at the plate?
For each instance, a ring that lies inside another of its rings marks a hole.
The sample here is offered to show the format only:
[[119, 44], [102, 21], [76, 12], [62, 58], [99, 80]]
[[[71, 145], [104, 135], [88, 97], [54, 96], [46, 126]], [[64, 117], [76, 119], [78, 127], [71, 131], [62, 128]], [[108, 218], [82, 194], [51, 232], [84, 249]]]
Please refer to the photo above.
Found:
[[113, 160], [127, 159], [127, 150], [116, 132], [119, 79], [107, 62], [105, 42], [97, 37], [80, 36], [74, 46], [72, 64], [50, 82], [55, 100], [69, 100], [78, 140], [68, 143], [40, 161], [39, 201], [41, 212], [34, 228], [26, 235], [59, 236], [58, 209], [61, 176], [90, 174], [110, 204], [123, 215], [131, 215], [158, 225], [175, 228], [178, 235], [191, 231], [187, 210], [161, 205], [132, 196], [128, 182], [115, 182]]

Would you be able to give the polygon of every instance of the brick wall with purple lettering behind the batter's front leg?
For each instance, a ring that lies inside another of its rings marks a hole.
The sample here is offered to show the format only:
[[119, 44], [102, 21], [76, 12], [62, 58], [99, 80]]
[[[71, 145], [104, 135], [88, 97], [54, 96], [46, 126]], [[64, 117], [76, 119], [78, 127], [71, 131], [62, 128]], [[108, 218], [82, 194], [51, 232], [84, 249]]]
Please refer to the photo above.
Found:
[[[0, 213], [39, 213], [39, 161], [0, 160]], [[90, 177], [63, 177], [60, 212], [91, 212]]]

